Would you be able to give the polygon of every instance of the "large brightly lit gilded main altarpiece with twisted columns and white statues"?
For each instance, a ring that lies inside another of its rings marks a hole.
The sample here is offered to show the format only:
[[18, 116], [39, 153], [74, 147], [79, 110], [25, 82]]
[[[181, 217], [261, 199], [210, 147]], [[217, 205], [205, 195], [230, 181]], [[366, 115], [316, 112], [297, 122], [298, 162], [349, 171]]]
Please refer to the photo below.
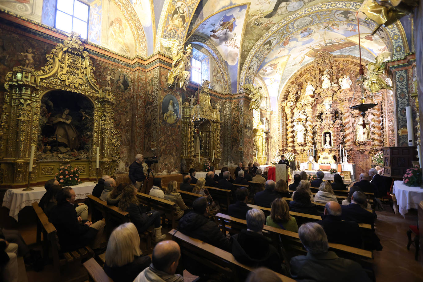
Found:
[[360, 113], [349, 108], [360, 103], [354, 96], [359, 65], [357, 57], [320, 52], [288, 80], [279, 100], [280, 132], [286, 132], [280, 153], [291, 151], [307, 162], [314, 146], [313, 162], [339, 163], [342, 145], [356, 175], [371, 167], [371, 158], [363, 154], [373, 156], [384, 146], [386, 90], [374, 95], [377, 105], [367, 111], [363, 127]]

